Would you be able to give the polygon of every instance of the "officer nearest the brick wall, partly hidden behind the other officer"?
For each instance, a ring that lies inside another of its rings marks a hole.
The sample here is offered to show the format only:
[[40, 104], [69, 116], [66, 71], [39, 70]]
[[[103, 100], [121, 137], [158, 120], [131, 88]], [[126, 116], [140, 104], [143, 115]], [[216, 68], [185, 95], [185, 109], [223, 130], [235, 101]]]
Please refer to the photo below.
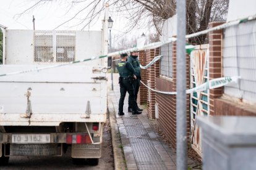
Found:
[[[128, 57], [127, 62], [132, 64], [132, 67], [134, 67], [134, 70], [135, 70], [135, 76], [137, 76], [137, 79], [134, 79], [134, 82], [133, 82], [135, 101], [137, 102], [138, 92], [139, 92], [139, 88], [140, 88], [140, 79], [141, 79], [140, 62], [138, 59], [138, 52], [137, 51], [131, 52], [130, 56]], [[136, 110], [142, 111], [143, 109], [137, 107]], [[128, 102], [128, 112], [132, 112], [130, 100]]]

